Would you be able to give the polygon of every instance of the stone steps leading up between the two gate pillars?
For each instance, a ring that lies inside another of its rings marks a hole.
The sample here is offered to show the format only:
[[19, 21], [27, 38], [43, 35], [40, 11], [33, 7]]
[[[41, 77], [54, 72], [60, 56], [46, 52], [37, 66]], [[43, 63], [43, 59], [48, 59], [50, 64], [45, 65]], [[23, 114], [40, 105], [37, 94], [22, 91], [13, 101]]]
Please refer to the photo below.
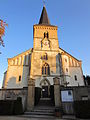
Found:
[[26, 111], [24, 117], [55, 118], [55, 107], [50, 98], [41, 98], [38, 105], [32, 111]]

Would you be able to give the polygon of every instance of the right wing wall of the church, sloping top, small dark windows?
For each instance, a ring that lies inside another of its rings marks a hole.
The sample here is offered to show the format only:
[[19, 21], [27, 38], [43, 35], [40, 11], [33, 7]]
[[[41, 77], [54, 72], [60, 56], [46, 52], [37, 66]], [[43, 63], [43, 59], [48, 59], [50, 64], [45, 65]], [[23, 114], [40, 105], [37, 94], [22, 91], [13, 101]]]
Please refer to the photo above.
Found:
[[62, 69], [67, 86], [84, 86], [81, 61], [62, 53]]

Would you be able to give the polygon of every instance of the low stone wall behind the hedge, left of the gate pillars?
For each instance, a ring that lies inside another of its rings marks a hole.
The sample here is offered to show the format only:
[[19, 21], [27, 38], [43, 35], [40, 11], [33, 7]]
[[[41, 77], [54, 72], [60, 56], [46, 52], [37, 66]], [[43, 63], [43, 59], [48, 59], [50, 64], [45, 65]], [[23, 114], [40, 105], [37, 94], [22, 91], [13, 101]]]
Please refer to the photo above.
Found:
[[27, 88], [23, 89], [0, 89], [0, 100], [16, 100], [22, 98], [23, 110], [27, 107]]

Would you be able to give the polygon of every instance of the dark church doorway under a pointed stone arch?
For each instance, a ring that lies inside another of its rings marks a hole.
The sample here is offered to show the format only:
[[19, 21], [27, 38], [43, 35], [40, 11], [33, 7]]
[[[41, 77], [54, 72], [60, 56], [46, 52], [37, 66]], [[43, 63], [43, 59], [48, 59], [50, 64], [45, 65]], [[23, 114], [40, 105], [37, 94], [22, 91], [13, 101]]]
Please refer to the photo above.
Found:
[[50, 82], [48, 79], [43, 79], [40, 82], [41, 86], [41, 98], [48, 98], [50, 97]]

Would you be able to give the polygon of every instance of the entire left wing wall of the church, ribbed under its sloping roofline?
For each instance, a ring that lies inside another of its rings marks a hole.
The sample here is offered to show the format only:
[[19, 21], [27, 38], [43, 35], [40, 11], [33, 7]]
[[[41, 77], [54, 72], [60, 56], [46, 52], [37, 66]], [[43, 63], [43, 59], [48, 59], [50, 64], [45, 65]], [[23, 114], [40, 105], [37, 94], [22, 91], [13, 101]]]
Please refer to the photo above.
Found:
[[4, 80], [4, 88], [27, 87], [28, 76], [30, 74], [30, 63], [30, 50], [8, 59], [8, 69]]

